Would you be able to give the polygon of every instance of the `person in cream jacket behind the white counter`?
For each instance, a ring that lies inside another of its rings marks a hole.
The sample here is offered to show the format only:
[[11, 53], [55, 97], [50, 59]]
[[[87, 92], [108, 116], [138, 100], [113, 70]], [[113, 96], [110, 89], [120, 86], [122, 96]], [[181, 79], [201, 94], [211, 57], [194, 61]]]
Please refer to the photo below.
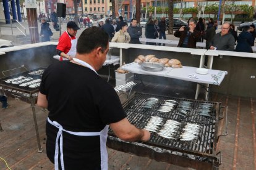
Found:
[[117, 31], [114, 34], [114, 37], [112, 38], [111, 42], [122, 42], [122, 43], [129, 43], [130, 42], [130, 35], [127, 33], [127, 23], [122, 22], [121, 30]]

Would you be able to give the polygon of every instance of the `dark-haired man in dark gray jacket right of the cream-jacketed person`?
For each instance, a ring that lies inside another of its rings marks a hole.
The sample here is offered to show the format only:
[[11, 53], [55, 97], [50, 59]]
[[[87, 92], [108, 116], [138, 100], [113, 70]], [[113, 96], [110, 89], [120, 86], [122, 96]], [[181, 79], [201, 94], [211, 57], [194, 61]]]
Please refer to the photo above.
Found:
[[130, 35], [130, 44], [142, 44], [140, 43], [140, 36], [142, 35], [142, 28], [137, 26], [137, 20], [132, 18], [131, 25], [127, 29], [127, 33]]

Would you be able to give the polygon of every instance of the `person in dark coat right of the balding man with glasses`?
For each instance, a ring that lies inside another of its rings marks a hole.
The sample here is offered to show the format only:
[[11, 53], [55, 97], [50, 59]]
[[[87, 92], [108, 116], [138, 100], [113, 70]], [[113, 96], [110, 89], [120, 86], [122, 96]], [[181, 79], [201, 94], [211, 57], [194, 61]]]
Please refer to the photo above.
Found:
[[237, 38], [236, 51], [237, 52], [252, 52], [254, 45], [254, 38], [250, 33], [250, 26], [244, 26], [242, 33]]

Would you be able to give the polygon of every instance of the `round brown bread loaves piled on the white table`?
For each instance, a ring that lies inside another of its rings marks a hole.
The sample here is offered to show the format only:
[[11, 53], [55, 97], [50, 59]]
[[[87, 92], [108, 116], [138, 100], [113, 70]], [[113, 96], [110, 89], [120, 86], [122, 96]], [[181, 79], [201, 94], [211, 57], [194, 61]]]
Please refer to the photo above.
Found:
[[177, 59], [167, 59], [167, 58], [163, 58], [163, 59], [158, 59], [155, 57], [155, 55], [139, 55], [135, 60], [135, 63], [143, 63], [143, 62], [152, 62], [152, 63], [161, 63], [164, 65], [164, 67], [173, 67], [173, 68], [181, 68], [181, 62]]

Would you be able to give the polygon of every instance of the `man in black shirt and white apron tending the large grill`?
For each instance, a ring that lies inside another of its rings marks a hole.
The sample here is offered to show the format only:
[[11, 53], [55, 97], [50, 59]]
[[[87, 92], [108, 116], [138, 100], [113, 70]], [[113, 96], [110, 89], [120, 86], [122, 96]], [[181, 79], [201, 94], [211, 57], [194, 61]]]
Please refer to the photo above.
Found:
[[122, 140], [147, 141], [129, 123], [118, 95], [96, 71], [106, 60], [108, 34], [93, 26], [80, 35], [72, 61], [43, 73], [38, 105], [48, 108], [46, 153], [55, 169], [108, 169], [108, 125]]

